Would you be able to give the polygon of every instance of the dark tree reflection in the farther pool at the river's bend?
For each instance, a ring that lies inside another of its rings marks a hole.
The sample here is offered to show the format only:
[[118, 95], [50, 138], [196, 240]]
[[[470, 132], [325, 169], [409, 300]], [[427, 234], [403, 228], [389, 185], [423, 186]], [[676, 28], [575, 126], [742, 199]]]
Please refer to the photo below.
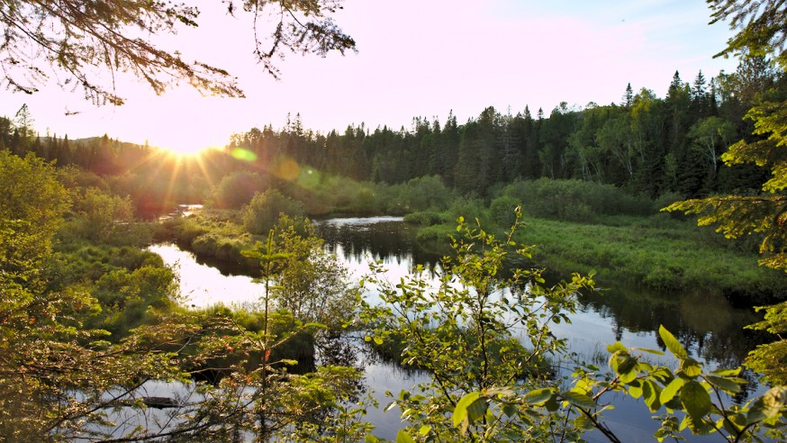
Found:
[[318, 229], [328, 249], [335, 253], [341, 247], [348, 261], [360, 262], [370, 256], [375, 260], [393, 260], [400, 264], [412, 259], [413, 264], [424, 267], [439, 264], [439, 255], [419, 248], [414, 229], [403, 222], [321, 223]]

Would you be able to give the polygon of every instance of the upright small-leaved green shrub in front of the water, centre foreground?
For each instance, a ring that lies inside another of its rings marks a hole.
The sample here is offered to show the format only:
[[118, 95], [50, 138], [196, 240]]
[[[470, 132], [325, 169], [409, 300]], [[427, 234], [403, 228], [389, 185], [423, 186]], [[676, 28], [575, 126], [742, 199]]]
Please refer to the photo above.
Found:
[[[366, 279], [380, 297], [380, 303], [367, 304], [361, 313], [372, 326], [367, 340], [384, 343], [396, 337], [406, 344], [401, 362], [430, 375], [430, 382], [417, 392], [403, 391], [394, 398], [403, 420], [410, 423], [409, 436], [452, 441], [529, 438], [531, 429], [511, 420], [476, 422], [488, 411], [486, 402], [476, 402], [472, 393], [491, 392], [493, 386], [526, 374], [533, 378], [524, 383], [539, 383], [538, 376], [544, 374], [538, 369], [549, 356], [565, 350], [565, 341], [550, 334], [548, 325], [567, 321], [566, 314], [574, 309], [573, 294], [592, 287], [593, 280], [574, 276], [571, 282], [547, 287], [538, 270], [507, 269], [514, 257], [529, 258], [529, 248], [511, 236], [496, 240], [461, 218], [457, 231], [461, 237], [453, 241], [456, 255], [443, 258], [445, 273], [436, 286], [421, 268], [398, 282], [386, 281], [379, 268]], [[527, 345], [516, 339], [516, 329], [529, 340]], [[455, 410], [460, 412], [451, 416]], [[471, 437], [463, 437], [468, 433]]]

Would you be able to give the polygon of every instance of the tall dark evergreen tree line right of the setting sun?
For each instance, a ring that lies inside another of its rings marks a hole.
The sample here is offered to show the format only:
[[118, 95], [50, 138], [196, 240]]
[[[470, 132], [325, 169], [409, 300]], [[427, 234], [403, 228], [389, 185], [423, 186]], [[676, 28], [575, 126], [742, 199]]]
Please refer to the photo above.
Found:
[[547, 116], [501, 113], [493, 107], [464, 124], [416, 117], [412, 128], [371, 131], [363, 123], [327, 135], [306, 131], [300, 117], [275, 131], [252, 128], [232, 136], [269, 164], [282, 156], [325, 172], [388, 184], [440, 176], [463, 194], [487, 195], [515, 179], [578, 178], [620, 186], [651, 198], [666, 193], [696, 197], [750, 189], [762, 183], [752, 167], [721, 168], [734, 141], [752, 139], [746, 110], [785, 93], [782, 73], [767, 59], [744, 59], [733, 73], [691, 83], [675, 72], [665, 98], [630, 84], [620, 104], [565, 102]]

